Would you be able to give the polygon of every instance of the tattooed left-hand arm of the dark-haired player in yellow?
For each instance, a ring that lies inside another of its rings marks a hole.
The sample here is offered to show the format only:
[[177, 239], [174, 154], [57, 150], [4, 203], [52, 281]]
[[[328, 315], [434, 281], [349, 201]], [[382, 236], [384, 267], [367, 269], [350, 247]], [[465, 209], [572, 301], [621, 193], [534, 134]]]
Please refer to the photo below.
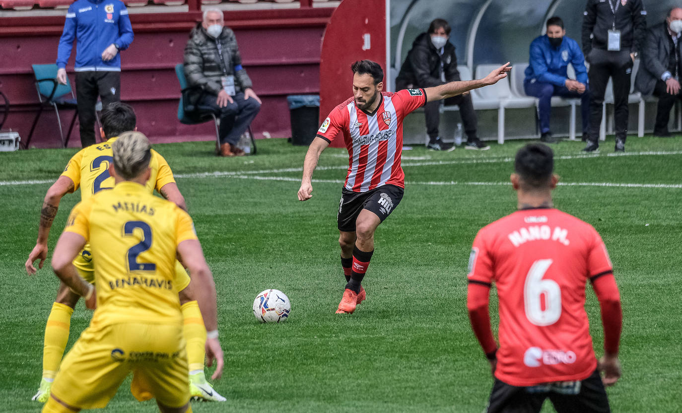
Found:
[[29, 254], [29, 259], [26, 260], [26, 271], [29, 275], [38, 272], [33, 266], [35, 260], [40, 260], [38, 268], [42, 269], [45, 260], [47, 259], [47, 240], [50, 236], [50, 228], [52, 222], [57, 216], [59, 210], [59, 202], [61, 198], [70, 192], [74, 192], [74, 181], [68, 177], [59, 177], [55, 183], [47, 190], [45, 200], [43, 201], [42, 209], [40, 209], [40, 226], [38, 226], [38, 241], [35, 241], [35, 247]]

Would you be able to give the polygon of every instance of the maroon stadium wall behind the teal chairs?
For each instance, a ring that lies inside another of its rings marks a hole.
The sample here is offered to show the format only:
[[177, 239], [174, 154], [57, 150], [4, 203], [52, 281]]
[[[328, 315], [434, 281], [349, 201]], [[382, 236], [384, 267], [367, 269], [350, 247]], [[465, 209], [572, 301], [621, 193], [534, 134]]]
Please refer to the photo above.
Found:
[[[319, 93], [321, 37], [331, 8], [230, 12], [227, 25], [239, 41], [243, 65], [263, 100], [252, 124], [256, 138], [291, 136], [286, 96]], [[121, 97], [138, 114], [138, 128], [153, 142], [207, 140], [213, 125], [182, 125], [177, 121], [179, 84], [175, 64], [183, 61], [188, 33], [201, 20], [197, 12], [132, 14], [135, 40], [121, 55]], [[53, 63], [63, 17], [3, 18], [0, 27], [0, 90], [12, 104], [5, 128], [28, 137], [38, 96], [33, 85], [33, 63]], [[72, 83], [72, 52], [69, 74]], [[73, 112], [63, 111], [64, 132]], [[65, 123], [65, 124], [64, 124]], [[59, 134], [53, 111], [43, 112], [31, 146], [57, 147]], [[78, 121], [70, 146], [79, 146]]]

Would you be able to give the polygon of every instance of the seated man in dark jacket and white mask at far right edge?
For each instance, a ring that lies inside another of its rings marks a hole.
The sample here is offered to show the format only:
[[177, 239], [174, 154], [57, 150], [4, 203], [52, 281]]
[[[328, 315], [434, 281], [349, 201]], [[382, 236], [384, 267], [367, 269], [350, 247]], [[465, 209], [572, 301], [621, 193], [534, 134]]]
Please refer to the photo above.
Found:
[[675, 100], [681, 99], [679, 78], [682, 75], [680, 37], [682, 33], [682, 8], [668, 11], [666, 21], [647, 32], [642, 49], [642, 66], [635, 79], [635, 87], [644, 96], [653, 93], [658, 97], [658, 110], [653, 134], [670, 136], [668, 121]]

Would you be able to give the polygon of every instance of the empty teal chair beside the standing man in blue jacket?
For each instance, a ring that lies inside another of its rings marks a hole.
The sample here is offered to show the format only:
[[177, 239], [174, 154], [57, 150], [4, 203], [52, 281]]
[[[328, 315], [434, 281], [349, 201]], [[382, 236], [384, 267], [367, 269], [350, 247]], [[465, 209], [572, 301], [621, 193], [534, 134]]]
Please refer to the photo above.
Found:
[[[59, 125], [59, 136], [61, 137], [61, 146], [66, 147], [69, 144], [71, 131], [74, 129], [76, 117], [78, 117], [78, 105], [76, 104], [76, 97], [71, 89], [71, 82], [67, 76], [66, 85], [59, 85], [57, 83], [57, 65], [31, 65], [33, 66], [33, 74], [35, 74], [35, 88], [38, 89], [38, 100], [40, 100], [40, 108], [35, 114], [33, 125], [31, 125], [31, 132], [26, 140], [26, 147], [29, 147], [35, 125], [38, 125], [38, 119], [45, 108], [50, 106], [55, 108], [57, 114], [57, 125]], [[74, 117], [71, 119], [69, 125], [69, 132], [64, 139], [64, 132], [61, 130], [61, 119], [59, 117], [59, 109], [74, 109]]]

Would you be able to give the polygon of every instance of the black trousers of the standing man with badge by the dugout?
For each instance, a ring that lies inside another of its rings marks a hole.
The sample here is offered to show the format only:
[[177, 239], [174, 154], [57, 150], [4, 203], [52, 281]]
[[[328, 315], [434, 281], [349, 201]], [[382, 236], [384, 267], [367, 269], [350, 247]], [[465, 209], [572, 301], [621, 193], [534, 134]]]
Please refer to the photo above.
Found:
[[613, 79], [614, 127], [616, 138], [625, 141], [627, 136], [627, 95], [630, 93], [632, 58], [627, 50], [609, 52], [592, 49], [587, 55], [590, 70], [590, 134], [589, 140], [597, 142], [602, 125], [602, 104], [608, 78]]

